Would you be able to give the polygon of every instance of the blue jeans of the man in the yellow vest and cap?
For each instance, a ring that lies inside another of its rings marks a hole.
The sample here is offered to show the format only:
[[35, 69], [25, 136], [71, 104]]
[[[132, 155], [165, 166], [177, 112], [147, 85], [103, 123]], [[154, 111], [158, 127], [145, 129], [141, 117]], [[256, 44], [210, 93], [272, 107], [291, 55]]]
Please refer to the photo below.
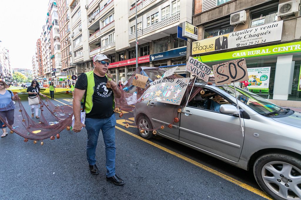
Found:
[[95, 165], [95, 150], [97, 146], [99, 131], [102, 131], [102, 136], [104, 137], [104, 144], [106, 147], [106, 168], [107, 168], [107, 177], [115, 175], [115, 157], [116, 157], [116, 148], [115, 148], [115, 125], [116, 118], [115, 113], [109, 118], [103, 119], [94, 119], [86, 118], [85, 119], [85, 128], [88, 133], [87, 139], [87, 160], [89, 165]]

